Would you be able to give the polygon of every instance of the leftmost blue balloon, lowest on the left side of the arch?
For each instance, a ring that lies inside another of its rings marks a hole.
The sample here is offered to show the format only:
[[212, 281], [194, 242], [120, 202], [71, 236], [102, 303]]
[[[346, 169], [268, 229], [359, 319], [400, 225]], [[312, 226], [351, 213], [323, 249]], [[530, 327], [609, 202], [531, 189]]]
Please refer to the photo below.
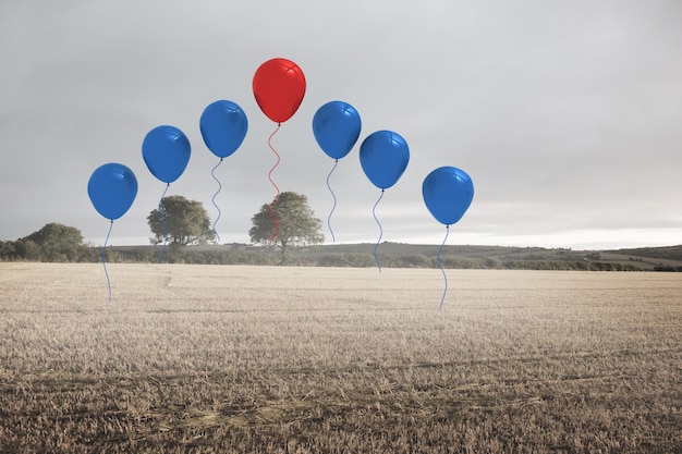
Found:
[[113, 221], [133, 205], [137, 195], [137, 179], [123, 164], [103, 164], [90, 175], [87, 194], [97, 212]]

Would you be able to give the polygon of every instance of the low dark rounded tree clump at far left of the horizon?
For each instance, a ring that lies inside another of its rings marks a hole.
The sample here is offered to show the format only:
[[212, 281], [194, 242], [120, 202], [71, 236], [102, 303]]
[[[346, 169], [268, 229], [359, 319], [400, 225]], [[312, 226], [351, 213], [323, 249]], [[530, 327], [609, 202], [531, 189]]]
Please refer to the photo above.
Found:
[[45, 261], [77, 261], [85, 251], [83, 234], [76, 228], [51, 222], [31, 235], [19, 240], [15, 247], [28, 260], [35, 260], [37, 245], [39, 258]]

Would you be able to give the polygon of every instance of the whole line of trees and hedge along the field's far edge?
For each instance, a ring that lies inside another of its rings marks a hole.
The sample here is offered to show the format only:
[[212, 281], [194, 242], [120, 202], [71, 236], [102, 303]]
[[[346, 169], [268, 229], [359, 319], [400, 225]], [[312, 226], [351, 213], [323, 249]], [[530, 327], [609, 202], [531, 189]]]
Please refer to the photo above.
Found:
[[[216, 245], [216, 232], [200, 203], [182, 196], [169, 196], [149, 212], [147, 222], [154, 246], [107, 247], [108, 262], [156, 262], [158, 246], [168, 243], [165, 261], [170, 263], [206, 265], [289, 265], [315, 267], [375, 267], [374, 255], [367, 250], [339, 251], [320, 247], [312, 253], [309, 246], [325, 241], [321, 221], [307, 204], [307, 197], [284, 192], [264, 204], [252, 217], [248, 232], [251, 245]], [[207, 246], [214, 245], [214, 246]], [[196, 247], [195, 247], [196, 246]], [[430, 254], [379, 254], [382, 267], [438, 268]], [[594, 257], [593, 257], [594, 258]], [[42, 229], [16, 241], [0, 241], [1, 261], [96, 262], [102, 259], [101, 247], [85, 244], [76, 228], [48, 223]], [[636, 262], [620, 263], [584, 259], [540, 259], [467, 257], [466, 254], [441, 255], [449, 269], [523, 269], [579, 271], [641, 271]], [[678, 268], [656, 271], [682, 271]]]

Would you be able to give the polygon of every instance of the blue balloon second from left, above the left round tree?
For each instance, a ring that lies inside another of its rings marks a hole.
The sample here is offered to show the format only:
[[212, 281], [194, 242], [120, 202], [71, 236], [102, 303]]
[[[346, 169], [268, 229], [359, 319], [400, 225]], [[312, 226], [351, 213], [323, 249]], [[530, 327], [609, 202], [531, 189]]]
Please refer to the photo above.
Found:
[[142, 157], [149, 172], [165, 183], [172, 183], [190, 162], [190, 140], [175, 126], [157, 126], [142, 143]]

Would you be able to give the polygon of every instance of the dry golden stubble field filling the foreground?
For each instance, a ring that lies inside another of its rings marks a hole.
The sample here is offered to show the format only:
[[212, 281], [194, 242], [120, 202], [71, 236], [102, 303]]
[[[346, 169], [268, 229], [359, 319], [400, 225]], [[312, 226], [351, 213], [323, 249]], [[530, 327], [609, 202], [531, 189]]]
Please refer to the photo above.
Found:
[[0, 263], [0, 453], [680, 453], [682, 275]]

